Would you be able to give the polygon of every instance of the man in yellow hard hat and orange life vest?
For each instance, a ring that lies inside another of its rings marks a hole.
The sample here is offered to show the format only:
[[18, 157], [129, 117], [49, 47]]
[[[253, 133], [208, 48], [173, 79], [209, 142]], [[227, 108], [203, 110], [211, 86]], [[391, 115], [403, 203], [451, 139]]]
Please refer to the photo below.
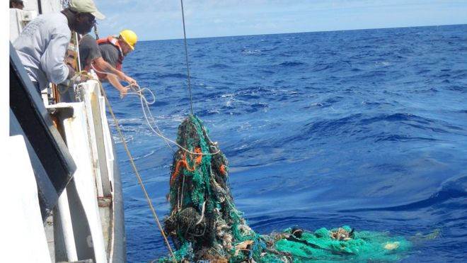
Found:
[[[97, 40], [97, 42], [103, 59], [121, 71], [123, 59], [134, 50], [137, 40], [138, 37], [132, 30], [123, 30], [119, 35], [110, 35], [107, 38]], [[99, 79], [108, 79], [110, 84], [120, 91], [120, 97], [127, 94], [129, 88], [122, 86], [115, 75], [103, 74], [103, 70], [100, 70], [95, 64], [93, 67], [96, 68]]]

